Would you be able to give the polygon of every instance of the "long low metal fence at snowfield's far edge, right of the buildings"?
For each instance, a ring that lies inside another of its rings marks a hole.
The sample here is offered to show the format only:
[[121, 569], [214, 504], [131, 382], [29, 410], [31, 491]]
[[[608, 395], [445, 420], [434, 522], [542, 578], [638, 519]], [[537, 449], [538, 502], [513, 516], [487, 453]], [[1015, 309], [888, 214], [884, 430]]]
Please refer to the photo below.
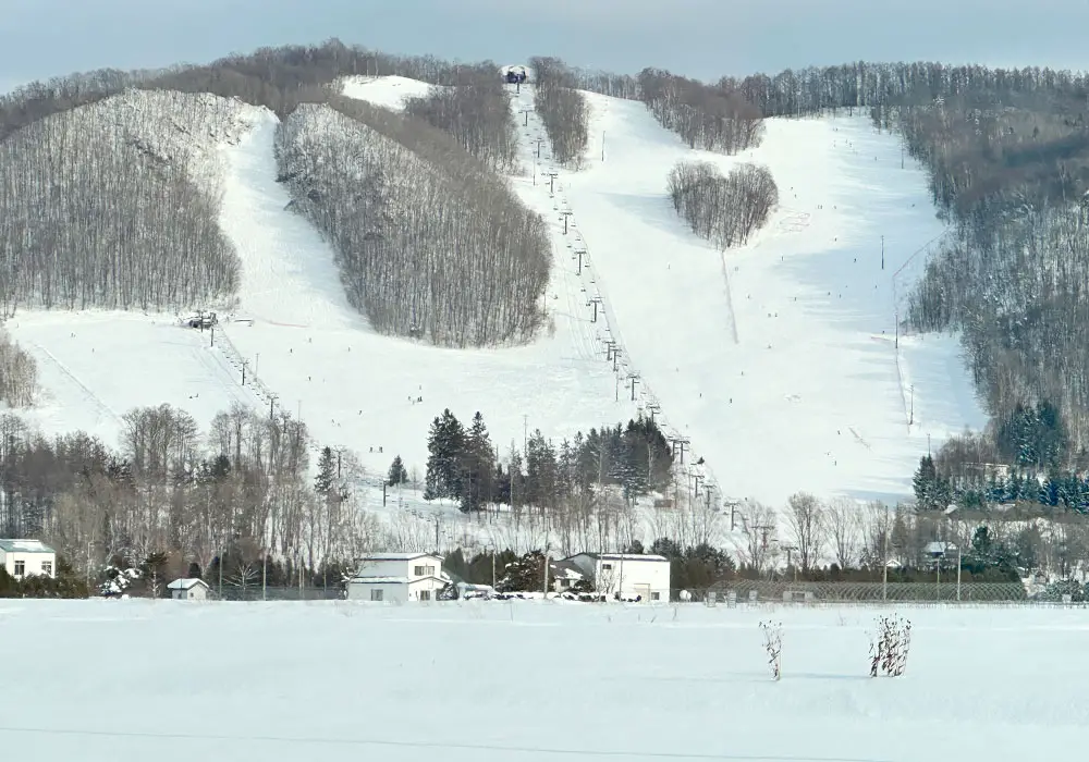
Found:
[[[1030, 597], [1020, 582], [790, 582], [737, 579], [706, 590], [675, 591], [673, 600], [689, 599], [725, 605], [736, 603], [1063, 603], [1061, 597]], [[1070, 602], [1070, 601], [1065, 601]], [[1074, 601], [1076, 602], [1076, 601]]]

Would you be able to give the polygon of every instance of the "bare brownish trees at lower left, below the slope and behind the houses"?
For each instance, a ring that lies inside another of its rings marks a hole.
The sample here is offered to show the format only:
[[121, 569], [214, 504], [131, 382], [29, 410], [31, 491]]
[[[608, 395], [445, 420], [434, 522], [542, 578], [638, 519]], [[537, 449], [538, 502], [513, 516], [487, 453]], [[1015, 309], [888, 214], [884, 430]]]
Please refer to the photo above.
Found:
[[40, 538], [93, 579], [161, 554], [155, 565], [170, 578], [222, 560], [231, 578], [274, 563], [308, 583], [391, 542], [347, 489], [359, 474], [351, 453], [325, 448], [311, 482], [313, 442], [286, 415], [236, 406], [201, 432], [161, 405], [123, 423], [114, 448], [83, 432], [47, 439], [0, 416], [0, 536]]

